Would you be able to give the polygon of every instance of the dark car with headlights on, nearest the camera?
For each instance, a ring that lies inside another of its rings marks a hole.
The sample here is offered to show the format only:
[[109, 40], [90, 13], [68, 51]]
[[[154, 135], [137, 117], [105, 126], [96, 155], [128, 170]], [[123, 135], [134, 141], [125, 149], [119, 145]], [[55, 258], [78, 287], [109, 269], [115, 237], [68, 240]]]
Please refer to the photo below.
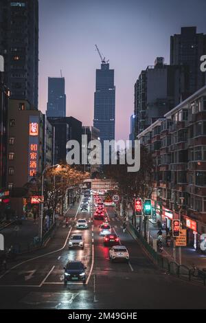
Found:
[[68, 261], [67, 265], [64, 267], [65, 275], [64, 282], [67, 285], [67, 282], [73, 280], [81, 280], [85, 284], [86, 278], [86, 269], [87, 267], [81, 261]]

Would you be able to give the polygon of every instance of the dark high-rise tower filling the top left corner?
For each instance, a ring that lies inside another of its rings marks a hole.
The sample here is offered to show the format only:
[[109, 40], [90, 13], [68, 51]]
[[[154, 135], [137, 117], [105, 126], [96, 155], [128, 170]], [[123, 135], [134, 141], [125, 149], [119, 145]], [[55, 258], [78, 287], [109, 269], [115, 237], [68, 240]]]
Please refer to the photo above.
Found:
[[38, 0], [0, 0], [0, 54], [12, 99], [38, 109]]

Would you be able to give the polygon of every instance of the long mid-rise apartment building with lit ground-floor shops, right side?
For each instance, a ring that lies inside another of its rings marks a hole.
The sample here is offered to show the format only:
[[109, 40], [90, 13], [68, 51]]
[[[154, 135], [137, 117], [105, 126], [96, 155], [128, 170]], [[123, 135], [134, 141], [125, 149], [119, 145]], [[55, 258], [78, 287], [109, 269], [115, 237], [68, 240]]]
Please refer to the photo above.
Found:
[[138, 135], [155, 163], [155, 217], [181, 219], [187, 242], [206, 233], [206, 86]]

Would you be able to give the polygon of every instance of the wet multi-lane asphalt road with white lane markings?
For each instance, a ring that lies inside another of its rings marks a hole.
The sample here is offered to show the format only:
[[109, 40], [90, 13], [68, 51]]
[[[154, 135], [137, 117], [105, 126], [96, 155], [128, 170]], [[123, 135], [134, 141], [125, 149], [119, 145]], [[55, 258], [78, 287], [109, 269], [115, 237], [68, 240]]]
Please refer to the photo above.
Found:
[[[122, 232], [113, 208], [106, 208], [114, 232], [130, 252], [129, 263], [111, 263], [108, 247], [99, 236], [99, 221], [79, 208], [70, 216], [69, 227], [61, 225], [47, 247], [21, 256], [0, 276], [1, 309], [205, 309], [206, 287], [193, 285], [160, 271], [137, 242]], [[82, 231], [85, 246], [68, 249], [76, 230], [76, 219], [87, 218], [89, 230]], [[87, 284], [63, 283], [67, 260], [82, 260]], [[188, 297], [190, 295], [190, 298]]]

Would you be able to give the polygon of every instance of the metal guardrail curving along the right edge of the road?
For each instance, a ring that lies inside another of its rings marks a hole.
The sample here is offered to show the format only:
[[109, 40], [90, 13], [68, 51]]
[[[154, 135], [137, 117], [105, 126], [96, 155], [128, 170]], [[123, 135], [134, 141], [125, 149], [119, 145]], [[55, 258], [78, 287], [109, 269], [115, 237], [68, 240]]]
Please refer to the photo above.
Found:
[[144, 247], [146, 252], [150, 255], [150, 258], [152, 258], [153, 262], [158, 265], [158, 267], [183, 280], [196, 282], [206, 286], [206, 271], [198, 268], [189, 268], [185, 265], [179, 265], [174, 261], [168, 260], [165, 256], [155, 252], [155, 250], [148, 244], [145, 238], [141, 236], [135, 227], [133, 227], [133, 225], [129, 224], [128, 229], [135, 234], [139, 243], [141, 243], [142, 247]]

